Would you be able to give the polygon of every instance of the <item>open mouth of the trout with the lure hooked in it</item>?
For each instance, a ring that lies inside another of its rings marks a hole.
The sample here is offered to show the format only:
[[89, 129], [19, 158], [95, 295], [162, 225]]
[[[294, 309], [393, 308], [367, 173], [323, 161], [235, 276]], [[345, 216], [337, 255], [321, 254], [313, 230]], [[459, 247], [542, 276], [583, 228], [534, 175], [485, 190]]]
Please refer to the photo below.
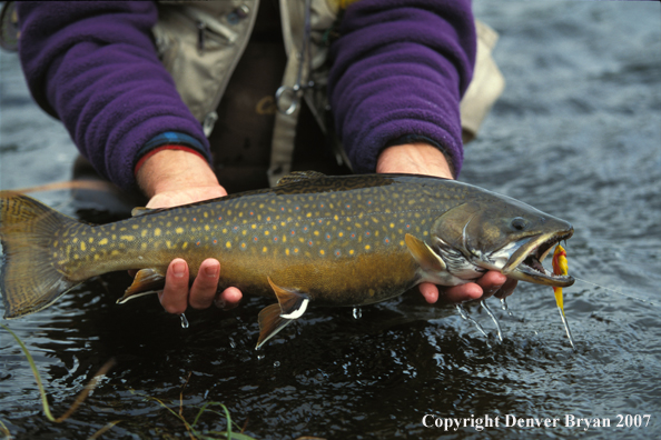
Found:
[[501, 272], [509, 278], [535, 284], [572, 286], [575, 281], [573, 277], [554, 274], [542, 266], [542, 261], [555, 244], [569, 239], [573, 233], [572, 228], [569, 231], [541, 233], [526, 239], [526, 242], [510, 257]]

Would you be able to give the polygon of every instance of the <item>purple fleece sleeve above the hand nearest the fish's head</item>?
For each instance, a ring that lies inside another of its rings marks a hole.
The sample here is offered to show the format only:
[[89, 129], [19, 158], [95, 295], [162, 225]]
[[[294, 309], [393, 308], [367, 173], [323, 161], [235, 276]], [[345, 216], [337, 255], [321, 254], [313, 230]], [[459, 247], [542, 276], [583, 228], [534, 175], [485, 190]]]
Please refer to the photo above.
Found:
[[345, 11], [328, 79], [337, 132], [356, 172], [398, 140], [432, 140], [455, 176], [458, 104], [473, 74], [470, 0], [361, 0]]

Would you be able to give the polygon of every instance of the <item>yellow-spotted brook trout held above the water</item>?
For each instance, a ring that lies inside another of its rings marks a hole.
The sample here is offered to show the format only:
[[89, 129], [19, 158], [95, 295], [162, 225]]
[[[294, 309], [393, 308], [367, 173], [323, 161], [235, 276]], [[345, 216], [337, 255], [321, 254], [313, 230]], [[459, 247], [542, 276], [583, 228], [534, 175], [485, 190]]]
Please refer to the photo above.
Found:
[[24, 196], [0, 194], [4, 317], [39, 311], [102, 273], [138, 269], [119, 302], [161, 289], [168, 263], [191, 277], [213, 257], [220, 290], [278, 303], [259, 313], [262, 346], [308, 303], [364, 306], [421, 282], [456, 286], [487, 270], [554, 287], [574, 280], [540, 261], [573, 228], [484, 189], [432, 177], [298, 172], [273, 189], [90, 226]]

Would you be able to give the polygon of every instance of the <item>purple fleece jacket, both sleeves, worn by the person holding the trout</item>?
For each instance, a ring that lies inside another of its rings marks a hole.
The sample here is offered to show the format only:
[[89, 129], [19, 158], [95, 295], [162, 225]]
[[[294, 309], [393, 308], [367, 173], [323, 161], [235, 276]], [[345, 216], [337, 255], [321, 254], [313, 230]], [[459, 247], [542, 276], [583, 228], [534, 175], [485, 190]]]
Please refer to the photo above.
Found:
[[[210, 159], [151, 39], [152, 2], [18, 2], [30, 91], [80, 152], [124, 189], [137, 161], [176, 132]], [[463, 160], [458, 103], [472, 77], [470, 0], [361, 0], [347, 8], [328, 81], [336, 130], [357, 172], [387, 144], [435, 143], [455, 173]]]

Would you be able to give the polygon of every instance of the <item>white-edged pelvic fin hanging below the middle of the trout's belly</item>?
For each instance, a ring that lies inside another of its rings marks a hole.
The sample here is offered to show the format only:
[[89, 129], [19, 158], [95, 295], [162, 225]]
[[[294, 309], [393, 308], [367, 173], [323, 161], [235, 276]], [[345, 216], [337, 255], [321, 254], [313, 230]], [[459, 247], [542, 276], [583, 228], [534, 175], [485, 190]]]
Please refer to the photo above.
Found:
[[278, 303], [265, 307], [259, 312], [259, 340], [257, 340], [255, 349], [259, 349], [293, 320], [300, 318], [309, 302], [307, 294], [293, 289], [283, 289], [273, 282], [270, 277], [268, 283], [278, 298]]

